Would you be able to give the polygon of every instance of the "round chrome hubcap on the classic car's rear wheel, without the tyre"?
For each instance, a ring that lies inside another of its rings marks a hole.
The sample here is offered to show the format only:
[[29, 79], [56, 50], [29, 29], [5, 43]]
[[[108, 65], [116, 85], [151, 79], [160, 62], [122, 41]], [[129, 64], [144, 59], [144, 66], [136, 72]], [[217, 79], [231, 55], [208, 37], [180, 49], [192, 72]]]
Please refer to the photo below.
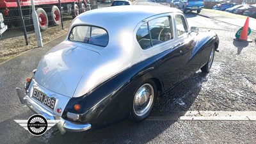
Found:
[[154, 89], [151, 84], [143, 84], [136, 92], [133, 102], [133, 110], [137, 116], [143, 116], [152, 106]]

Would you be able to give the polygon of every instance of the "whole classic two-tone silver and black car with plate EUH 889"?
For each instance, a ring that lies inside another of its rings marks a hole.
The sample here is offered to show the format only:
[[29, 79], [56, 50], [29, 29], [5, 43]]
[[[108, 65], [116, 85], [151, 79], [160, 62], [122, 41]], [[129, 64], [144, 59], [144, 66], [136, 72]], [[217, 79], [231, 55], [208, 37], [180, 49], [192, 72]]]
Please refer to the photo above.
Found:
[[45, 54], [17, 93], [36, 113], [61, 120], [61, 132], [123, 118], [141, 122], [157, 97], [200, 68], [209, 72], [218, 45], [212, 31], [189, 29], [176, 8], [91, 10], [73, 20], [67, 39]]

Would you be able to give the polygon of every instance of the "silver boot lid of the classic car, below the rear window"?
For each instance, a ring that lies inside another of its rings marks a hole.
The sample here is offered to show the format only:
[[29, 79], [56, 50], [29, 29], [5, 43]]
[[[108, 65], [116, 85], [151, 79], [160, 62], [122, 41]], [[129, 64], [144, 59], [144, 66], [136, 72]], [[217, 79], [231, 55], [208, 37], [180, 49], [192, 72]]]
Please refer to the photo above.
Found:
[[40, 61], [35, 81], [47, 90], [72, 97], [79, 80], [99, 56], [77, 45], [56, 45]]

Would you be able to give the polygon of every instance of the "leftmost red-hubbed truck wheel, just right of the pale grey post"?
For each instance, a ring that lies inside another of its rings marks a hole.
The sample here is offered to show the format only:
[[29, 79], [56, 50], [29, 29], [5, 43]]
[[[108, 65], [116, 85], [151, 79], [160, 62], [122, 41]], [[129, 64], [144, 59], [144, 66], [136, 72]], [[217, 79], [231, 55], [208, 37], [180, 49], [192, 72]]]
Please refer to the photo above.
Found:
[[39, 27], [42, 31], [45, 31], [48, 28], [48, 17], [44, 9], [38, 8], [36, 10], [37, 16], [38, 16], [38, 22], [39, 22]]

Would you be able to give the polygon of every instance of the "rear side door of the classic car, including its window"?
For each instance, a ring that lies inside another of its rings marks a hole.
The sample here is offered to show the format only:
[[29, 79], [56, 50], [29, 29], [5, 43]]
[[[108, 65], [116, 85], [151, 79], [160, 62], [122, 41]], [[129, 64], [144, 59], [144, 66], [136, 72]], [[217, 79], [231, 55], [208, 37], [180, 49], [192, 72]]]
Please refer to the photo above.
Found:
[[148, 21], [152, 54], [156, 58], [157, 74], [163, 81], [164, 91], [179, 82], [180, 53], [174, 47], [172, 15]]

